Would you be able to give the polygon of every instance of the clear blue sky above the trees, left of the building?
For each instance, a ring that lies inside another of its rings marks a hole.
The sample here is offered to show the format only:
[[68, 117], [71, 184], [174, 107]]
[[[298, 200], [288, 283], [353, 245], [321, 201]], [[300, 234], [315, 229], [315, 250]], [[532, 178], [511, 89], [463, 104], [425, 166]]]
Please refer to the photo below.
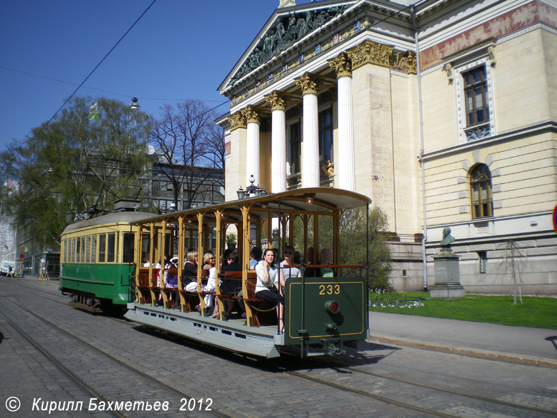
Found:
[[[1, 0], [0, 150], [48, 121], [151, 2]], [[187, 99], [216, 106], [226, 100], [217, 87], [277, 6], [157, 0], [76, 95], [136, 96], [155, 117], [162, 104]]]

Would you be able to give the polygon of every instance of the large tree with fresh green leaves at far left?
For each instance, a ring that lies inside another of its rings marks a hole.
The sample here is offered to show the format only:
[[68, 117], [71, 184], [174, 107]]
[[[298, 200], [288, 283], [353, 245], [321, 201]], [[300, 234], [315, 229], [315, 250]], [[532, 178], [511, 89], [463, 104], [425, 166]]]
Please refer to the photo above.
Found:
[[117, 100], [75, 98], [0, 153], [1, 176], [13, 184], [2, 190], [1, 210], [19, 226], [33, 223], [40, 245], [49, 245], [72, 219], [140, 198], [149, 127], [148, 115]]

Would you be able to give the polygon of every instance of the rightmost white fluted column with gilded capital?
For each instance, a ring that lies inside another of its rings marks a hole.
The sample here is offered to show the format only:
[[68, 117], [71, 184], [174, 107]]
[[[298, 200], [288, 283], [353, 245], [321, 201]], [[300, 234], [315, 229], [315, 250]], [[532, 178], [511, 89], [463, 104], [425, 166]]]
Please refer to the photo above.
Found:
[[338, 173], [340, 189], [355, 189], [354, 169], [354, 104], [352, 102], [352, 63], [345, 52], [329, 61], [334, 68], [338, 87]]

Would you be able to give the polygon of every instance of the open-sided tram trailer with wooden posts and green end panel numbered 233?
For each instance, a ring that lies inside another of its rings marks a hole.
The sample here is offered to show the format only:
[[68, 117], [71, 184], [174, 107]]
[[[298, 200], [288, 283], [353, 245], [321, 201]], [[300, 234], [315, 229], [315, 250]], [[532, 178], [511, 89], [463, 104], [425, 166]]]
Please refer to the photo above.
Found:
[[[306, 188], [132, 222], [136, 231], [134, 261], [140, 267], [135, 269], [134, 277], [136, 300], [128, 305], [125, 317], [210, 346], [267, 358], [285, 352], [306, 357], [344, 353], [345, 346], [357, 349], [369, 336], [368, 261], [362, 260], [361, 265], [340, 264], [339, 229], [344, 210], [367, 209], [369, 204], [367, 196], [354, 192]], [[241, 296], [237, 292], [223, 295], [219, 289], [218, 261], [231, 234], [237, 237], [236, 251], [242, 271], [227, 272], [222, 278], [238, 279]], [[320, 245], [327, 247], [333, 253], [333, 264], [306, 265], [302, 260], [297, 265], [304, 274], [285, 282], [284, 330], [279, 330], [276, 307], [256, 297], [256, 274], [249, 270], [249, 253], [253, 246], [283, 249], [285, 245], [309, 254], [308, 259], [313, 260], [317, 260]], [[185, 290], [183, 285], [189, 279], [182, 277], [185, 254], [192, 248], [197, 249], [199, 260], [196, 292], [191, 292], [191, 288]], [[207, 308], [204, 301], [205, 251], [212, 251], [217, 258], [214, 291], [217, 316], [212, 315], [214, 308]], [[167, 272], [178, 276], [178, 288], [157, 284], [154, 266], [162, 264], [164, 254], [178, 257], [176, 268]], [[334, 270], [334, 275], [306, 274], [320, 268]], [[230, 299], [241, 302], [245, 314], [240, 316], [239, 311], [237, 316], [226, 318], [223, 313]]]

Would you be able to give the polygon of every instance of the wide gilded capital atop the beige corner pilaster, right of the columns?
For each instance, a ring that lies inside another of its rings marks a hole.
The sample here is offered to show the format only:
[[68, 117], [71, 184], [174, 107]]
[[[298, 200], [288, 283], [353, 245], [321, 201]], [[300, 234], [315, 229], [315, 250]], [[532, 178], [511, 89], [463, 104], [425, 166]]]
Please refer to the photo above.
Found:
[[410, 51], [402, 53], [389, 45], [365, 40], [360, 45], [348, 49], [347, 54], [352, 61], [353, 70], [362, 65], [373, 64], [416, 74], [416, 54]]

